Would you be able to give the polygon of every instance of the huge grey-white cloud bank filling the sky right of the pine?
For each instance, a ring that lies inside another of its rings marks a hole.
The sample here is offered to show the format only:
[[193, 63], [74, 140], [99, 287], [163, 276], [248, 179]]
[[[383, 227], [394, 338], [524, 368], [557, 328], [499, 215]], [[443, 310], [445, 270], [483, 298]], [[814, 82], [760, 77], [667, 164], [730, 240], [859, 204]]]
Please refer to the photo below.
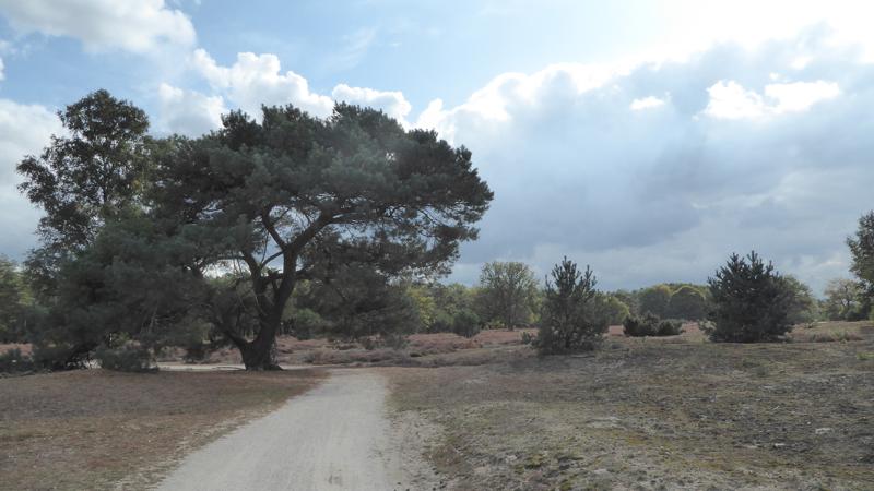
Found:
[[607, 288], [704, 282], [754, 248], [816, 289], [846, 275], [843, 238], [874, 182], [874, 67], [855, 53], [718, 45], [505, 74], [459, 106], [434, 100], [417, 124], [472, 148], [496, 195], [454, 277], [496, 258], [545, 274], [567, 254]]

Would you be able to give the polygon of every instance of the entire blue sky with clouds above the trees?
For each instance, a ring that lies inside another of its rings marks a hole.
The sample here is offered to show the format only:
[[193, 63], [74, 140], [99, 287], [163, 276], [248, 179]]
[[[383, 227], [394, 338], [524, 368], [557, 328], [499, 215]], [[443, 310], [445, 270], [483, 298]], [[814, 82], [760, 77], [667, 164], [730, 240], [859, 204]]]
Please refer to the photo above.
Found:
[[14, 167], [106, 88], [152, 131], [335, 101], [473, 152], [495, 201], [448, 278], [568, 256], [602, 288], [704, 283], [755, 249], [820, 294], [874, 208], [866, 1], [0, 0], [0, 254]]

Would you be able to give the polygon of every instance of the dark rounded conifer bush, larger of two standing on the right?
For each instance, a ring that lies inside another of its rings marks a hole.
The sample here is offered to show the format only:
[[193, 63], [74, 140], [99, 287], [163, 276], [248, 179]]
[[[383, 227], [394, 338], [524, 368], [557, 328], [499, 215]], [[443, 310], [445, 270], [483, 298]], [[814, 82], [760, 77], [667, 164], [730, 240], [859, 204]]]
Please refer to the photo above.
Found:
[[758, 254], [732, 254], [708, 279], [713, 298], [707, 334], [714, 342], [773, 340], [792, 330], [791, 290], [786, 279]]

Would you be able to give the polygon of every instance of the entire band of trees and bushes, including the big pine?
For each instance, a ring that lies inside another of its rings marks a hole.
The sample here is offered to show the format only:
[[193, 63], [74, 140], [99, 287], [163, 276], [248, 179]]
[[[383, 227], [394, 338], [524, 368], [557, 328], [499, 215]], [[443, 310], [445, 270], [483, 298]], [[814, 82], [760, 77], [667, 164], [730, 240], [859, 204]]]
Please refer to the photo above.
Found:
[[341, 104], [326, 119], [264, 107], [197, 139], [155, 137], [141, 109], [106, 91], [59, 117], [66, 134], [17, 166], [45, 212], [40, 244], [21, 267], [0, 261], [0, 342], [34, 344], [43, 367], [234, 346], [267, 370], [282, 334], [399, 345], [496, 327], [538, 327], [541, 352], [570, 352], [597, 347], [609, 325], [676, 334], [678, 320], [754, 342], [872, 315], [874, 213], [848, 239], [857, 279], [829, 283], [824, 300], [755, 252], [708, 285], [601, 291], [567, 258], [543, 282], [495, 261], [474, 287], [446, 285], [493, 193], [470, 151], [434, 132]]

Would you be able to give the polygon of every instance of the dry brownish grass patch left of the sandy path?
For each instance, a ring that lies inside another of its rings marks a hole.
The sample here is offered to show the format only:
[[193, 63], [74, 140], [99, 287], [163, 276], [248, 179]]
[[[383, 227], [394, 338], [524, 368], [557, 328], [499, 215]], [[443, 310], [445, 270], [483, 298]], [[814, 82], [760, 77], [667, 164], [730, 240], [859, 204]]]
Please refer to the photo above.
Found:
[[321, 376], [82, 370], [0, 379], [0, 489], [142, 489]]

